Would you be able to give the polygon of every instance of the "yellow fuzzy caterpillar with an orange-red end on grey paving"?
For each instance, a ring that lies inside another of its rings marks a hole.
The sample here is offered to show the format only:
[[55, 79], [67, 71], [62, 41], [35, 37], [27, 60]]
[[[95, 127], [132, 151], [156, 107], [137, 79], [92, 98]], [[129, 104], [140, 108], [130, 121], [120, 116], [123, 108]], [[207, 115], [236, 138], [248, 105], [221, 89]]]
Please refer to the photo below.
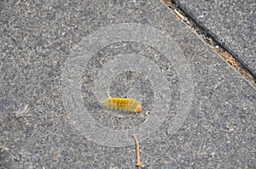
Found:
[[131, 98], [108, 98], [104, 100], [104, 104], [108, 109], [122, 110], [127, 112], [142, 112], [143, 106], [139, 104], [137, 99]]

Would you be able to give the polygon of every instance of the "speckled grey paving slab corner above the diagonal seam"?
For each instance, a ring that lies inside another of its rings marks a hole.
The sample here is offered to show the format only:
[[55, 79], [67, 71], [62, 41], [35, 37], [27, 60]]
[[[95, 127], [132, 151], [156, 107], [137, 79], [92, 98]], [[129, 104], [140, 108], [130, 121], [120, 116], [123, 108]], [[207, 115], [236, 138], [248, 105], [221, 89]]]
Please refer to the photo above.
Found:
[[175, 0], [256, 75], [256, 2]]

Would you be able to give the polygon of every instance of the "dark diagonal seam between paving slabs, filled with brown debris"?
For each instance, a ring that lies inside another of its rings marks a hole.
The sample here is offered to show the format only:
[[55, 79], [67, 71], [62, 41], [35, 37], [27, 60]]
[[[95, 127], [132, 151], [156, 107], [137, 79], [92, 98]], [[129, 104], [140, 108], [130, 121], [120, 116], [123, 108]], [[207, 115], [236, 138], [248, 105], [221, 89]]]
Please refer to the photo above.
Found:
[[[253, 75], [251, 70], [242, 64], [241, 60], [236, 57], [236, 55], [231, 54], [229, 49], [225, 48], [221, 42], [218, 42], [218, 38], [212, 35], [211, 32], [207, 31], [207, 27], [202, 25], [199, 21], [195, 19], [193, 14], [189, 14], [185, 9], [181, 7], [174, 0], [162, 0], [163, 3], [169, 8], [172, 8], [174, 14], [177, 14], [178, 18], [181, 19], [180, 15], [184, 16], [183, 20], [189, 27], [194, 30], [202, 39], [207, 42], [207, 44], [213, 48], [221, 57], [223, 57], [230, 65], [232, 65], [237, 71], [244, 76], [248, 82], [251, 82], [254, 87], [256, 87], [256, 75]], [[179, 13], [179, 14], [178, 14]]]

